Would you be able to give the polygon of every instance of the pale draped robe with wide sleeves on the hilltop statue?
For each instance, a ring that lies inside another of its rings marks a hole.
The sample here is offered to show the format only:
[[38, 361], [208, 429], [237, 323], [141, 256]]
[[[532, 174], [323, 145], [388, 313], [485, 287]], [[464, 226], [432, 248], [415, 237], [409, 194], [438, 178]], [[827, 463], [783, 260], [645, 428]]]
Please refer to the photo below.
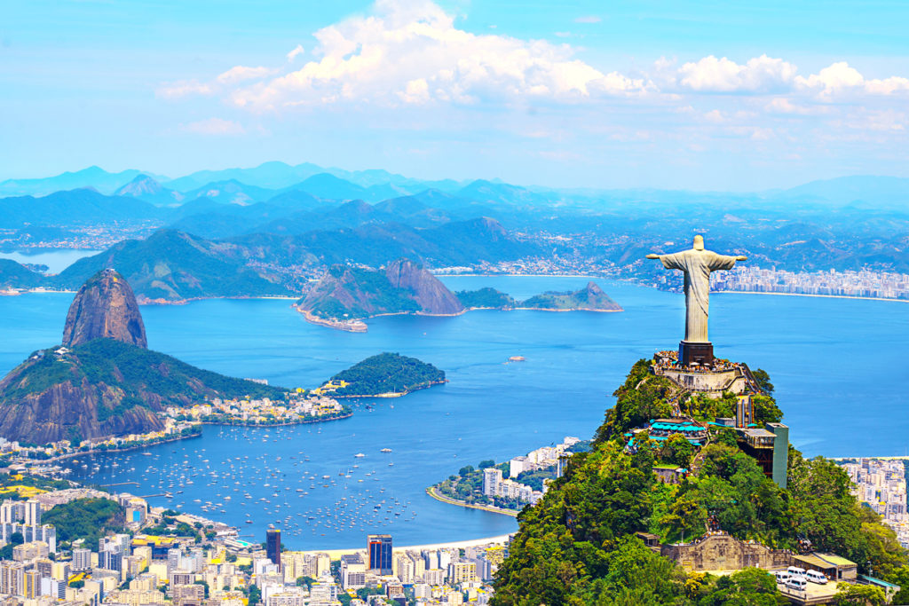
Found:
[[707, 337], [710, 273], [732, 269], [735, 257], [692, 248], [681, 253], [661, 254], [660, 261], [666, 269], [684, 272], [684, 340], [688, 343], [710, 343]]

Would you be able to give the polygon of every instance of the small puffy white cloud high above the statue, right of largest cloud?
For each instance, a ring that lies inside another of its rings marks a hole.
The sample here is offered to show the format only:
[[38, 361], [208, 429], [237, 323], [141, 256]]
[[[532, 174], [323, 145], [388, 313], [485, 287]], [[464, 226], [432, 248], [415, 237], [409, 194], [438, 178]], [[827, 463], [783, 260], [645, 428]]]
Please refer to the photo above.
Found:
[[726, 57], [705, 56], [678, 69], [683, 88], [702, 93], [762, 93], [786, 88], [797, 68], [783, 59], [761, 55], [739, 65]]

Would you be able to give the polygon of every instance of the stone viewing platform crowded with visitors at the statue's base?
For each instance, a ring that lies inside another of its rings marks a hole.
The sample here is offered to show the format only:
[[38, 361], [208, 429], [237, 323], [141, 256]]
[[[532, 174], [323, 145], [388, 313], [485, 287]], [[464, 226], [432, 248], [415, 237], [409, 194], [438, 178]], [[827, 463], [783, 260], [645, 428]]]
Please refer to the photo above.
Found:
[[724, 392], [736, 395], [760, 392], [751, 370], [744, 363], [714, 359], [713, 366], [683, 366], [678, 362], [678, 352], [664, 351], [654, 354], [651, 369], [686, 392], [704, 393], [711, 398], [722, 397]]

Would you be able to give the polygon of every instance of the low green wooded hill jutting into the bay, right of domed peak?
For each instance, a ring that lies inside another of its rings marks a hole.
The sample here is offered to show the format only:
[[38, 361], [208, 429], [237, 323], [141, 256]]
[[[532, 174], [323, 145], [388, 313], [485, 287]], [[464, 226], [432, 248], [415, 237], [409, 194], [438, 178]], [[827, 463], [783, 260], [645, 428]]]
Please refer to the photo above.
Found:
[[379, 353], [356, 363], [314, 390], [334, 398], [396, 398], [445, 382], [445, 371], [400, 353]]

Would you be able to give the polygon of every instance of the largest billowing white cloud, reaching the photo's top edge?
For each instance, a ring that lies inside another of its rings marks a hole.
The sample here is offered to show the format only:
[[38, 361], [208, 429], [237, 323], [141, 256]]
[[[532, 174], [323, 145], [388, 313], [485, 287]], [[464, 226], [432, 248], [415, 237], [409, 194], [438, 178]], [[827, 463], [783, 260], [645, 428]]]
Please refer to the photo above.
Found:
[[[643, 79], [600, 72], [575, 59], [568, 45], [458, 29], [454, 18], [431, 2], [379, 0], [374, 15], [325, 27], [315, 38], [319, 60], [236, 89], [234, 103], [261, 111], [344, 101], [578, 101], [594, 94], [639, 93], [648, 86]], [[417, 85], [419, 90], [413, 88]]]

